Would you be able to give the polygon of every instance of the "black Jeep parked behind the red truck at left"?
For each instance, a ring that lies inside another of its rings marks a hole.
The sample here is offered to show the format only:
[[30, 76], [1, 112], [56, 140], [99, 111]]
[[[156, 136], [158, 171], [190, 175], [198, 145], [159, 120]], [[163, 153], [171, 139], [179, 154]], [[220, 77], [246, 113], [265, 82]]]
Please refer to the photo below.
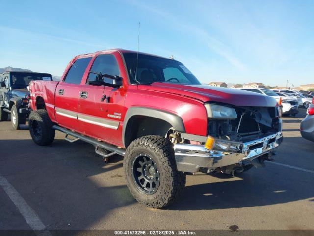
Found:
[[51, 74], [7, 71], [0, 74], [0, 121], [11, 114], [13, 129], [19, 129], [28, 118], [28, 90], [32, 80], [52, 80]]

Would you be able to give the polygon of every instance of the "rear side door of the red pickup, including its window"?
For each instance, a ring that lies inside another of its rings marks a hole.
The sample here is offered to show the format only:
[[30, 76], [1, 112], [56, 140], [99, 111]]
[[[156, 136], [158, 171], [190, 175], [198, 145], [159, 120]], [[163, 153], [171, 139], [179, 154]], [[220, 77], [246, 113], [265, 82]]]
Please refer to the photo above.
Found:
[[55, 90], [55, 118], [60, 126], [78, 131], [80, 83], [92, 57], [77, 59]]

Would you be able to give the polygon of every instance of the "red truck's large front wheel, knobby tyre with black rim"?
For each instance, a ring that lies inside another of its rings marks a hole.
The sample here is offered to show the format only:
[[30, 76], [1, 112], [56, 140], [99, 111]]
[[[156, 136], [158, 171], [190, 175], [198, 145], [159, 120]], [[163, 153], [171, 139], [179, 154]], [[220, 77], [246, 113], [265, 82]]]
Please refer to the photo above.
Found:
[[186, 175], [177, 170], [170, 141], [158, 135], [135, 139], [124, 156], [127, 186], [146, 207], [163, 208], [175, 201]]

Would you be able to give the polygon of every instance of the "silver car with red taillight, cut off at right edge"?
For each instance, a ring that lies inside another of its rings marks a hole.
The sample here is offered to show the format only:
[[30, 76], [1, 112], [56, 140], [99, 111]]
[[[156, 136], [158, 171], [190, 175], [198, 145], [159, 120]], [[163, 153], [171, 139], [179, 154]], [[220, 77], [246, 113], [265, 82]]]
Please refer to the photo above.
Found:
[[314, 104], [310, 104], [307, 116], [301, 121], [300, 132], [303, 138], [314, 142]]

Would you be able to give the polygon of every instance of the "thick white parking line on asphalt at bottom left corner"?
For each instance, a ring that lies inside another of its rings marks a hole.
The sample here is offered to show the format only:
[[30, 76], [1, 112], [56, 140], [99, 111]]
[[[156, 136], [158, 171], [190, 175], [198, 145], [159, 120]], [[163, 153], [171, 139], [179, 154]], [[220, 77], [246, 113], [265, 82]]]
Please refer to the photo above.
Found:
[[26, 220], [27, 224], [38, 236], [51, 236], [50, 232], [45, 230], [46, 227], [39, 219], [36, 212], [26, 203], [23, 197], [16, 191], [16, 189], [9, 183], [9, 181], [0, 175], [0, 185], [9, 196], [11, 201], [19, 209], [20, 213]]

